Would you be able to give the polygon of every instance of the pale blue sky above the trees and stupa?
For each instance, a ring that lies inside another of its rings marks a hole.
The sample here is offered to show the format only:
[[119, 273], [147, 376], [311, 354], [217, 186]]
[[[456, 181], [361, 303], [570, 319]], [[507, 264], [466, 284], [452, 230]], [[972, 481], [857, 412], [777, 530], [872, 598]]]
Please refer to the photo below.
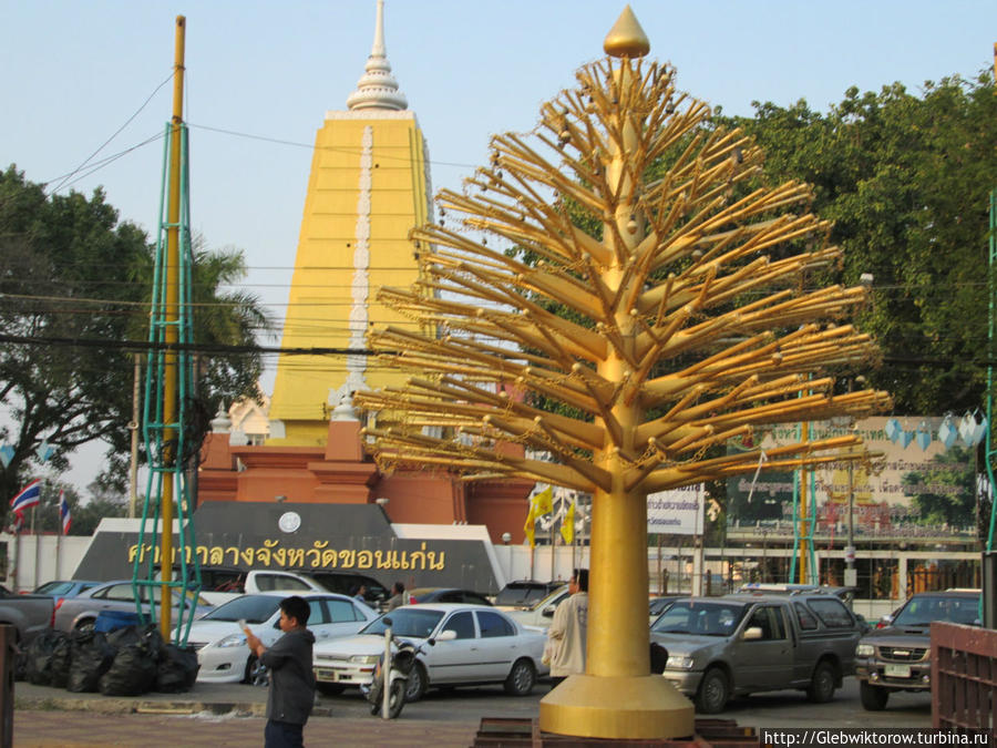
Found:
[[[492, 133], [532, 129], [539, 104], [602, 55], [624, 4], [387, 0], [388, 59], [429, 142], [434, 188], [459, 186], [483, 163]], [[753, 100], [805, 99], [825, 111], [852, 85], [878, 91], [901, 81], [917, 91], [926, 80], [974, 78], [991, 65], [997, 41], [993, 0], [630, 4], [651, 57], [678, 69], [678, 86], [730, 114], [750, 114]], [[315, 132], [326, 111], [346, 109], [370, 51], [374, 8], [374, 0], [7, 0], [0, 167], [16, 163], [30, 181], [54, 181], [140, 109], [97, 160], [162, 132], [172, 86], [156, 89], [173, 65], [174, 19], [186, 16], [193, 226], [212, 247], [244, 249], [247, 289], [282, 316]], [[123, 218], [152, 230], [161, 163], [155, 142], [72, 188], [102, 185]]]

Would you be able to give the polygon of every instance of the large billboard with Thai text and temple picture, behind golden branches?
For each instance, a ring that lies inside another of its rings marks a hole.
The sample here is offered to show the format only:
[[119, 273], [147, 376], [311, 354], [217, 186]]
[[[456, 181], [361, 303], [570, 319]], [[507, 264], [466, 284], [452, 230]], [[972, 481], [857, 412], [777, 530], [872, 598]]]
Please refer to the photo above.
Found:
[[[802, 475], [806, 514], [816, 518], [821, 534], [843, 532], [850, 514], [859, 535], [952, 537], [973, 533], [974, 450], [980, 424], [972, 417], [962, 422], [953, 417], [878, 417], [854, 424], [815, 421], [809, 428], [811, 440], [857, 434], [873, 457], [798, 473], [767, 470], [762, 462], [760, 469], [729, 479], [729, 527], [791, 524]], [[757, 433], [753, 441], [731, 443], [728, 452], [769, 450], [800, 440], [799, 424], [783, 424]]]

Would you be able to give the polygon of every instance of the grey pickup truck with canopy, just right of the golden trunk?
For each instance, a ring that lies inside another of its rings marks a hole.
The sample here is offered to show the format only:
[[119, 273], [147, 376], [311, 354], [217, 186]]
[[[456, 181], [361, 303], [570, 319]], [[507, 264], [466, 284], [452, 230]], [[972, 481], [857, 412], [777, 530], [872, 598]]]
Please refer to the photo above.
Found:
[[680, 598], [650, 628], [652, 662], [702, 714], [734, 695], [785, 688], [830, 701], [854, 672], [860, 637], [845, 604], [820, 592]]

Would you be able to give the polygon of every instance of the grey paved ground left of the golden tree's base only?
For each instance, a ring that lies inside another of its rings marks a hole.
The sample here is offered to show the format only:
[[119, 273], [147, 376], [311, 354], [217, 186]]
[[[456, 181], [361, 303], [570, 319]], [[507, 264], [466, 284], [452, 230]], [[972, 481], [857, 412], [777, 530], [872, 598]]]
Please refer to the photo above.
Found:
[[[311, 746], [470, 746], [483, 715], [536, 715], [547, 693], [505, 696], [502, 688], [461, 689], [453, 696], [431, 691], [407, 705], [401, 719], [372, 717], [353, 693], [319, 697], [305, 728]], [[147, 694], [135, 698], [71, 694], [17, 683], [14, 745], [55, 748], [92, 746], [253, 746], [263, 742], [266, 688], [197, 684], [187, 694]], [[469, 706], [470, 705], [470, 706]]]

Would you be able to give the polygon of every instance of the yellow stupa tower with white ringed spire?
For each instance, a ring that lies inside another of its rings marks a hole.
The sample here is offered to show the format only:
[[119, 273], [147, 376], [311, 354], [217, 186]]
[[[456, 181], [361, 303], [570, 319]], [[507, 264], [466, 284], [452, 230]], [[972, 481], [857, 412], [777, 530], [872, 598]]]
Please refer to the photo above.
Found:
[[417, 280], [408, 235], [431, 206], [425, 141], [388, 62], [383, 7], [347, 111], [327, 112], [316, 135], [284, 325], [285, 348], [341, 352], [280, 356], [268, 444], [321, 445], [330, 417], [356, 418], [353, 392], [402, 381], [372, 365], [366, 336], [412, 325], [376, 295]]

